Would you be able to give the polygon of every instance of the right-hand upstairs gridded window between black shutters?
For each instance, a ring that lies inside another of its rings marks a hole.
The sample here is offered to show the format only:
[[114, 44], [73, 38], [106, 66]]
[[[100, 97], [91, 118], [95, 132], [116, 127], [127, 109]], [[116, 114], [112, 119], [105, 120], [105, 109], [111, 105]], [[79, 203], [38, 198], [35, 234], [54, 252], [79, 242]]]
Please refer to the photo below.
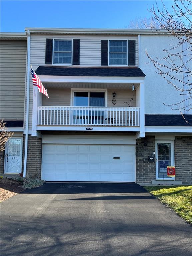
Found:
[[109, 41], [109, 65], [127, 65], [127, 41]]

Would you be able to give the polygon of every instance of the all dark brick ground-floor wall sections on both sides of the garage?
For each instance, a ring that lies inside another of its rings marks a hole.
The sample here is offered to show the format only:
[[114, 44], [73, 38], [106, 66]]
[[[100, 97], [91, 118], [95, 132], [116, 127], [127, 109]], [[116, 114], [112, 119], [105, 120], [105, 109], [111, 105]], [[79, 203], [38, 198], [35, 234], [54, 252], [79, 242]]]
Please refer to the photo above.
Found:
[[[148, 144], [144, 146], [144, 139], [136, 140], [136, 182], [151, 183], [156, 180], [155, 162], [149, 163], [148, 156], [155, 151], [155, 136], [146, 136]], [[25, 135], [23, 135], [23, 159], [24, 163]], [[175, 136], [174, 154], [176, 177], [183, 184], [192, 183], [192, 137]], [[41, 177], [41, 139], [28, 135], [28, 154], [27, 154], [27, 175], [37, 175]], [[4, 172], [4, 151], [0, 153], [0, 171]]]

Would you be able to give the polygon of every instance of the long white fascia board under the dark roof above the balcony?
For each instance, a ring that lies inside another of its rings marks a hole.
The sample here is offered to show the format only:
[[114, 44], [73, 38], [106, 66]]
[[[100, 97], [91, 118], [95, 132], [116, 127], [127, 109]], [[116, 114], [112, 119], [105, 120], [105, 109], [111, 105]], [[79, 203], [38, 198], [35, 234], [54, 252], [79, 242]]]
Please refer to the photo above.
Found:
[[43, 76], [41, 82], [47, 83], [144, 83], [144, 77], [108, 77], [108, 76]]

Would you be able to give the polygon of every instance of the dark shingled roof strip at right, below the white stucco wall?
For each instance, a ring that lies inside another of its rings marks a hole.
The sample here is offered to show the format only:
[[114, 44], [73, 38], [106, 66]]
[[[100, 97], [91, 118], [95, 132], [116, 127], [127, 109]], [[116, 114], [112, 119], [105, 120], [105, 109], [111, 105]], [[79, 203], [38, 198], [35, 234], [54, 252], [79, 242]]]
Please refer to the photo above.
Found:
[[[189, 122], [187, 123], [185, 119]], [[192, 115], [145, 115], [147, 126], [192, 126]], [[191, 127], [192, 132], [192, 127]]]

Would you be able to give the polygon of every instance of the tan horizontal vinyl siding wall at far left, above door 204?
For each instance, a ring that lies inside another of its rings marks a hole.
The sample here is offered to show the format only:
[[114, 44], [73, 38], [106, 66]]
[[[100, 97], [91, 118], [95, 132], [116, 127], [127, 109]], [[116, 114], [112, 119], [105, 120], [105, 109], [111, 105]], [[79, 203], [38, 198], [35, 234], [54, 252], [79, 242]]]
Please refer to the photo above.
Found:
[[23, 120], [27, 42], [1, 40], [1, 119]]

